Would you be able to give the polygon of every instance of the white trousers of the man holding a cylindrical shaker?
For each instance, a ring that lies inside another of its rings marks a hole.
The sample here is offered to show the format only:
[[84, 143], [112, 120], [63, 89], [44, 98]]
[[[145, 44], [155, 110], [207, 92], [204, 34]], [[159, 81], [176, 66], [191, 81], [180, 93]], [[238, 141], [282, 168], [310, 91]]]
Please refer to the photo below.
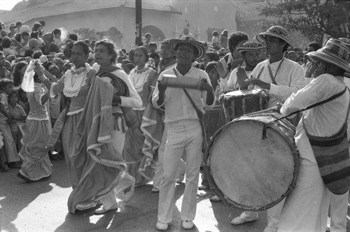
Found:
[[186, 186], [181, 205], [181, 219], [186, 221], [195, 219], [202, 140], [202, 129], [197, 120], [183, 120], [169, 124], [164, 154], [164, 175], [160, 184], [158, 221], [170, 223], [173, 220], [176, 171], [183, 153], [186, 155]]

